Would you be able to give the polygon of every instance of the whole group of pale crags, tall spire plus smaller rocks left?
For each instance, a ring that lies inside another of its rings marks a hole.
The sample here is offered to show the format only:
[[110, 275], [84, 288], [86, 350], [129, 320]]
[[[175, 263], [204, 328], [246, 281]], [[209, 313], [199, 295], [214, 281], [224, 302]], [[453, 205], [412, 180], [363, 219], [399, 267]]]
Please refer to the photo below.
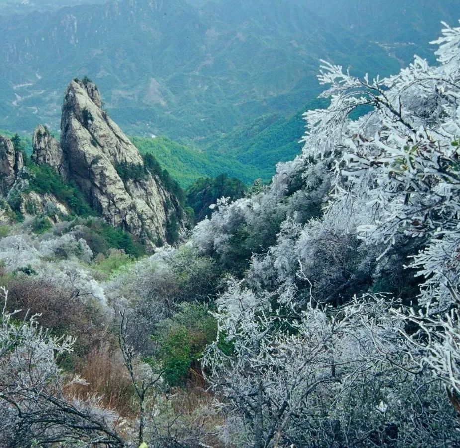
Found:
[[[95, 214], [139, 237], [153, 250], [170, 240], [168, 232], [184, 234], [184, 211], [101, 107], [99, 90], [92, 82], [73, 80], [64, 96], [60, 142], [46, 127], [38, 126], [32, 160], [76, 185]], [[54, 220], [70, 215], [72, 204], [30, 191], [29, 179], [34, 174], [24, 168], [21, 151], [5, 137], [0, 138], [0, 161], [1, 193], [8, 196], [8, 202], [14, 195], [22, 214], [43, 213], [51, 203], [58, 210], [51, 214]]]

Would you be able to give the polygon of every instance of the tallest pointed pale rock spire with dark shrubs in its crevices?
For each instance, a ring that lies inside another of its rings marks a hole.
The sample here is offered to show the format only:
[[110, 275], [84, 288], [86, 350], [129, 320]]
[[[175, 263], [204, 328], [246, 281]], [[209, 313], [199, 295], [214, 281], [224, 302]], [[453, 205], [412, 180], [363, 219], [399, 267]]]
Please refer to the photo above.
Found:
[[[151, 249], [167, 241], [172, 223], [183, 233], [177, 198], [145, 169], [137, 148], [101, 109], [97, 88], [72, 81], [62, 110], [63, 174], [77, 183], [92, 207], [109, 224], [139, 236]], [[137, 176], [122, 179], [122, 172]]]

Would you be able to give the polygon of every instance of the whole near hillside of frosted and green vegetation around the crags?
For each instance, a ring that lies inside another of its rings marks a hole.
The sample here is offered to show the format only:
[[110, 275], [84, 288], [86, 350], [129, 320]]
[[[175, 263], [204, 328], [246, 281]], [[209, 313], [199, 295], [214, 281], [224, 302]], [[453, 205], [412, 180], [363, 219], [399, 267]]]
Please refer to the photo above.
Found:
[[[3, 138], [0, 445], [459, 446], [460, 27], [433, 45], [384, 78], [323, 61], [323, 108], [268, 184], [185, 194], [119, 137], [140, 163], [107, 172], [199, 221], [153, 253]], [[14, 208], [59, 182], [66, 216]]]

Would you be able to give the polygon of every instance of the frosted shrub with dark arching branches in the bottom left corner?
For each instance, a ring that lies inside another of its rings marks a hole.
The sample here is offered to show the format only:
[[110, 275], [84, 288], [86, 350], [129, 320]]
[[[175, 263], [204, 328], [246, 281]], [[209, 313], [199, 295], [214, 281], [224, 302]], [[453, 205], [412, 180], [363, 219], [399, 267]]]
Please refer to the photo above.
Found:
[[[7, 293], [3, 290], [4, 303]], [[0, 321], [0, 437], [5, 446], [86, 443], [125, 446], [116, 414], [66, 395], [81, 378], [66, 378], [58, 359], [73, 350], [71, 337], [52, 336], [36, 316], [16, 320], [3, 307]]]

